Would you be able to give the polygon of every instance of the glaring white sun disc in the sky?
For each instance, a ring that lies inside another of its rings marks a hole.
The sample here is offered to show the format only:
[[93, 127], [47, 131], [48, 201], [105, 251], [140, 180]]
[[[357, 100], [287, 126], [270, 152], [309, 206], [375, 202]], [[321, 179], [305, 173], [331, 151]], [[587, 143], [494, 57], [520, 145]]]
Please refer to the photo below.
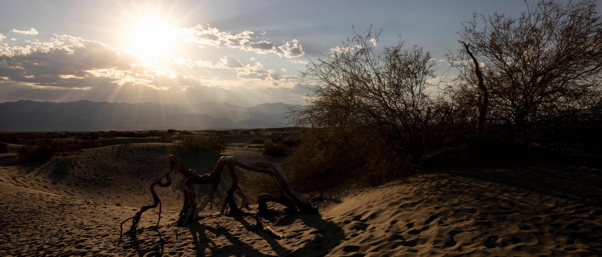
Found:
[[161, 17], [139, 17], [128, 26], [129, 48], [147, 58], [167, 57], [176, 49], [174, 28]]

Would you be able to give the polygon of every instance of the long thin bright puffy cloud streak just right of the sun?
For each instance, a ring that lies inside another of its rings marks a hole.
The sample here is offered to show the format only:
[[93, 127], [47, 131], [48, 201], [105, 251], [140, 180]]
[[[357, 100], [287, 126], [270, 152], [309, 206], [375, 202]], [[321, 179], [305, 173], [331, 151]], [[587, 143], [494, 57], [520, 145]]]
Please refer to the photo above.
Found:
[[[220, 32], [217, 28], [209, 26], [197, 25], [192, 28], [177, 28], [175, 32], [181, 35], [185, 41], [200, 44], [202, 46], [227, 46], [234, 49], [255, 52], [259, 54], [273, 53], [276, 55], [284, 55], [287, 58], [294, 58], [304, 55], [299, 41], [293, 40], [282, 46], [267, 41], [251, 41], [254, 33], [252, 31], [243, 31], [237, 34], [231, 32]], [[260, 33], [265, 36], [265, 32]]]

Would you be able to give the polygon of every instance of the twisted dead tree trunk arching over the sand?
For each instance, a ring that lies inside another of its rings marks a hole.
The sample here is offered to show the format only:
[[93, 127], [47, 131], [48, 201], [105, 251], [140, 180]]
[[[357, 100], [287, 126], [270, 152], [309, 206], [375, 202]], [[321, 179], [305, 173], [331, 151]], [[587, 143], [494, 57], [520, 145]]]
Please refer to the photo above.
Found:
[[[169, 156], [169, 171], [163, 174], [160, 178], [151, 183], [151, 194], [153, 197], [154, 204], [146, 205], [140, 208], [132, 219], [132, 226], [129, 228], [127, 234], [135, 233], [136, 228], [138, 226], [138, 222], [140, 222], [140, 216], [144, 211], [149, 210], [151, 208], [156, 208], [159, 206], [159, 220], [161, 219], [161, 200], [155, 193], [154, 187], [159, 185], [161, 187], [167, 187], [172, 184], [172, 180], [170, 178], [170, 173], [175, 169], [182, 176], [184, 176], [184, 180], [182, 180], [182, 190], [184, 191], [184, 205], [182, 206], [182, 210], [179, 213], [179, 219], [176, 222], [178, 226], [187, 225], [190, 222], [196, 221], [197, 216], [200, 211], [202, 211], [209, 202], [213, 203], [214, 195], [217, 190], [217, 187], [220, 184], [220, 178], [222, 176], [222, 171], [224, 168], [228, 168], [228, 172], [230, 177], [232, 178], [232, 186], [228, 189], [226, 194], [226, 198], [223, 200], [222, 208], [220, 209], [220, 214], [226, 213], [226, 207], [229, 207], [230, 213], [241, 213], [240, 208], [238, 208], [236, 202], [234, 201], [234, 193], [238, 190], [241, 195], [242, 203], [241, 208], [249, 208], [249, 204], [247, 202], [247, 197], [244, 195], [240, 187], [238, 186], [238, 175], [235, 172], [235, 167], [240, 167], [246, 169], [248, 171], [260, 172], [264, 174], [270, 175], [274, 178], [276, 184], [280, 189], [282, 195], [273, 195], [273, 194], [262, 194], [259, 196], [259, 212], [263, 212], [267, 210], [267, 205], [265, 202], [272, 201], [278, 202], [279, 204], [285, 205], [289, 209], [293, 211], [299, 211], [299, 213], [303, 214], [318, 214], [318, 209], [311, 206], [311, 203], [307, 201], [307, 199], [303, 198], [303, 196], [299, 195], [293, 187], [291, 187], [291, 183], [288, 180], [287, 174], [282, 170], [282, 168], [275, 164], [269, 162], [250, 162], [249, 160], [245, 160], [240, 157], [235, 156], [224, 156], [217, 161], [216, 167], [213, 169], [211, 174], [205, 175], [197, 175], [194, 172], [184, 168], [184, 162], [180, 160], [178, 157]], [[166, 178], [167, 182], [163, 183], [163, 178]], [[201, 202], [200, 206], [197, 206], [196, 195], [194, 193], [193, 186], [195, 184], [211, 184], [211, 188], [209, 189], [209, 195]], [[126, 219], [123, 223], [128, 221]], [[157, 220], [157, 226], [159, 225], [159, 220]]]

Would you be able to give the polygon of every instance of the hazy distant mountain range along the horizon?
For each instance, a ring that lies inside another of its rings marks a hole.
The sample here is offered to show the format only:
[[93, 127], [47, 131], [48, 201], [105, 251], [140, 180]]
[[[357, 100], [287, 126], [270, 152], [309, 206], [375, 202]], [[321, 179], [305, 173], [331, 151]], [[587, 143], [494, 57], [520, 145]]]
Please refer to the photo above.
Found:
[[0, 103], [0, 132], [285, 127], [288, 120], [282, 117], [287, 107], [291, 105], [265, 103], [241, 107], [229, 103], [197, 103], [175, 106], [20, 100]]

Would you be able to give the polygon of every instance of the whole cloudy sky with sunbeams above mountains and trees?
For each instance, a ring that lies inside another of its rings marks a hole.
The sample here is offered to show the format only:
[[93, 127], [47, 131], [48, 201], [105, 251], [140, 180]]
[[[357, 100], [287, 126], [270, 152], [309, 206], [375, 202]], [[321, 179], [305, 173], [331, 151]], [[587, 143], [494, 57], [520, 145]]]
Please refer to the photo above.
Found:
[[[305, 104], [309, 60], [355, 32], [429, 50], [437, 74], [473, 13], [524, 1], [4, 1], [0, 102]], [[598, 7], [599, 8], [599, 7]], [[379, 48], [380, 47], [380, 48]]]

